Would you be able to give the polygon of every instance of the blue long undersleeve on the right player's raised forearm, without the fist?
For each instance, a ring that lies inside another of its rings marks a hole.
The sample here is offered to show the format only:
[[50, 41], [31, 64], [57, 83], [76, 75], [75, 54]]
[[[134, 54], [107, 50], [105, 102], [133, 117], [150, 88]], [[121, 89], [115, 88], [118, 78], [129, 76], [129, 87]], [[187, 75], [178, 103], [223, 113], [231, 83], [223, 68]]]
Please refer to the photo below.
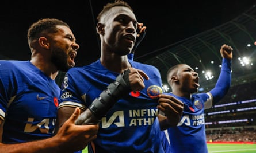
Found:
[[220, 99], [222, 99], [226, 95], [226, 93], [228, 92], [228, 89], [230, 88], [230, 85], [231, 85], [231, 60], [223, 58], [220, 76], [217, 80], [215, 88], [213, 88], [210, 91], [213, 97], [213, 104], [216, 104], [217, 102], [219, 102]]

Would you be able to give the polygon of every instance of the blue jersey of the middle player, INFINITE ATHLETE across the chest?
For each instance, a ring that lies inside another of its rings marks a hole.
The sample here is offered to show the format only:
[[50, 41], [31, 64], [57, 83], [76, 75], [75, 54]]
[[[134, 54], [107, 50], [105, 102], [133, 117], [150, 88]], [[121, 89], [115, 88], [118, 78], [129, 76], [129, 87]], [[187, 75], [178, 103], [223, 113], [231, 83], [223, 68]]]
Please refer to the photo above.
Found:
[[[118, 100], [100, 123], [100, 129], [89, 152], [163, 152], [157, 99], [161, 76], [154, 66], [129, 60], [133, 68], [143, 70], [149, 77], [145, 88], [131, 92]], [[62, 84], [60, 107], [73, 106], [86, 109], [119, 73], [101, 65], [100, 60], [71, 68]], [[93, 148], [93, 149], [92, 149]]]

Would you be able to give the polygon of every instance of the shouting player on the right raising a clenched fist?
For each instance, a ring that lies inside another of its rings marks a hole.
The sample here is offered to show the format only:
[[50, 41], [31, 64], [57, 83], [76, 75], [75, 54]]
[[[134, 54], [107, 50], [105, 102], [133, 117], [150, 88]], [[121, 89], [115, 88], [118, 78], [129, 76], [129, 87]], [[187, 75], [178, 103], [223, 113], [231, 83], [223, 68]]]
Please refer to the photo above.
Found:
[[230, 88], [232, 50], [231, 46], [225, 44], [221, 46], [220, 54], [223, 60], [220, 76], [215, 88], [207, 93], [193, 94], [199, 87], [199, 77], [189, 65], [178, 64], [168, 70], [167, 81], [172, 89], [169, 95], [185, 104], [182, 119], [177, 127], [167, 130], [167, 138], [170, 140], [165, 140], [170, 142], [170, 150], [173, 152], [208, 152], [204, 109], [211, 108], [219, 102]]

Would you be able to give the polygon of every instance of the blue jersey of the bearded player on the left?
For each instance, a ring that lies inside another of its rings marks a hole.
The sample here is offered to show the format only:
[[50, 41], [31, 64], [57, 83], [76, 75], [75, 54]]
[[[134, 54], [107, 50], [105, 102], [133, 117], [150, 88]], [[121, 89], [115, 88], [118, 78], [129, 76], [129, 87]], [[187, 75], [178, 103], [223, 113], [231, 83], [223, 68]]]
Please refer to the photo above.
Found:
[[3, 143], [54, 135], [60, 88], [30, 61], [0, 61]]

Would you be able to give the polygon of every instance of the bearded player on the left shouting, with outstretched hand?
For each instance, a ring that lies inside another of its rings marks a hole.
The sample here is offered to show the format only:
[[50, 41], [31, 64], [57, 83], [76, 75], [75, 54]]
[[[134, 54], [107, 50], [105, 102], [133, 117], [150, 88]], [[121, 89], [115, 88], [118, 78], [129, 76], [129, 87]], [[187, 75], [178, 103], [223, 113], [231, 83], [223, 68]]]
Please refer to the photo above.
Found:
[[0, 152], [73, 152], [96, 138], [98, 125], [75, 125], [74, 109], [54, 135], [58, 70], [75, 65], [79, 45], [67, 23], [40, 19], [28, 30], [30, 61], [0, 61]]

